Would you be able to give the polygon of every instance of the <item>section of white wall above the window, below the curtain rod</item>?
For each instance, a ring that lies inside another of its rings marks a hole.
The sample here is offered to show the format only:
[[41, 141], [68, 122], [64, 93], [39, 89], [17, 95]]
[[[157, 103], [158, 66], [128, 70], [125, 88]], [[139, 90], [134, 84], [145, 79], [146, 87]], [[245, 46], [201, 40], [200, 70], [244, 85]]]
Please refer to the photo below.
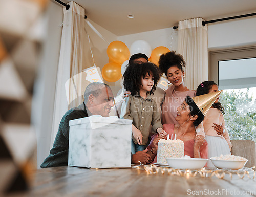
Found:
[[256, 45], [256, 17], [208, 24], [208, 50]]

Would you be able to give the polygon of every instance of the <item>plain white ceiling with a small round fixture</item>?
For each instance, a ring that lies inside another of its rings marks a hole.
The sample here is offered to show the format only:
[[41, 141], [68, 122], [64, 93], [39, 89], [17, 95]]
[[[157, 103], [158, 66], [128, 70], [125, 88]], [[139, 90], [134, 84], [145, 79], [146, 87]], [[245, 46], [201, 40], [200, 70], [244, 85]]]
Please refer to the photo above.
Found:
[[[90, 20], [117, 36], [170, 28], [177, 26], [178, 21], [184, 19], [202, 17], [207, 21], [256, 12], [255, 0], [74, 0], [74, 2], [86, 9], [86, 15]], [[135, 17], [130, 19], [127, 17], [128, 14], [133, 14]]]

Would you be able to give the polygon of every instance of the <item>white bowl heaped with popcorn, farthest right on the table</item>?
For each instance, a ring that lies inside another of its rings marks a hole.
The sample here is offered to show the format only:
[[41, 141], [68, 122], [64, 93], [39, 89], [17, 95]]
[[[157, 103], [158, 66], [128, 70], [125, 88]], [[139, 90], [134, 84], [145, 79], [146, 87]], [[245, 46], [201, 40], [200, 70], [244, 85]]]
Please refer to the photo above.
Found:
[[239, 170], [248, 161], [246, 158], [235, 155], [221, 155], [220, 157], [211, 157], [210, 160], [217, 168], [228, 168], [232, 170]]

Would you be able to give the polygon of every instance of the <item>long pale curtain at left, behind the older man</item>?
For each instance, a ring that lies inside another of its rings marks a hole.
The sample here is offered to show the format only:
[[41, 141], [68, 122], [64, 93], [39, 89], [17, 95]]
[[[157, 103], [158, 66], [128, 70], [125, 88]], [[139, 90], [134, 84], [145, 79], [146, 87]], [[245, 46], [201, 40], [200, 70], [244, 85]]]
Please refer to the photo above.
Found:
[[[63, 7], [63, 29], [55, 92], [55, 104], [51, 135], [51, 147], [58, 131], [62, 116], [69, 108], [77, 107], [83, 98], [79, 92], [82, 83], [82, 62], [84, 53], [85, 10], [75, 2], [69, 2], [69, 10]], [[73, 77], [74, 76], [74, 77]]]

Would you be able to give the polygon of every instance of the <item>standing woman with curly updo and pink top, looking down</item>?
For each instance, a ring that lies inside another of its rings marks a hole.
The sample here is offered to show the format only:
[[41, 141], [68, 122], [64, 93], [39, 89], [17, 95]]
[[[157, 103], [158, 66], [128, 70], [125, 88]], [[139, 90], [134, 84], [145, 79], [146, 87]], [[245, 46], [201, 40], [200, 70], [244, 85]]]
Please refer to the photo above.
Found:
[[165, 73], [169, 83], [172, 83], [165, 91], [165, 99], [162, 104], [162, 124], [177, 124], [177, 107], [185, 100], [186, 96], [194, 97], [195, 91], [189, 90], [184, 84], [185, 73], [183, 67], [186, 63], [180, 54], [170, 51], [160, 56], [159, 69]]

